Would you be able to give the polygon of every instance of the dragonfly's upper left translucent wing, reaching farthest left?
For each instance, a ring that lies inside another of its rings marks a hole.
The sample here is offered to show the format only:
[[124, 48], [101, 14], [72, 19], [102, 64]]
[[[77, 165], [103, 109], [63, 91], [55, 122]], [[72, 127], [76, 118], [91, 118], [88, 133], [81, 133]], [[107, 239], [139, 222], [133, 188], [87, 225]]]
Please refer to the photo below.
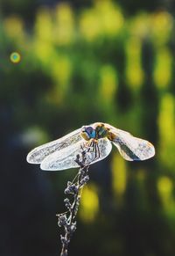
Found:
[[81, 141], [81, 128], [74, 130], [72, 133], [52, 141], [45, 143], [34, 150], [31, 150], [27, 155], [27, 162], [31, 164], [40, 164], [45, 157], [49, 156], [57, 150], [63, 150], [66, 147]]

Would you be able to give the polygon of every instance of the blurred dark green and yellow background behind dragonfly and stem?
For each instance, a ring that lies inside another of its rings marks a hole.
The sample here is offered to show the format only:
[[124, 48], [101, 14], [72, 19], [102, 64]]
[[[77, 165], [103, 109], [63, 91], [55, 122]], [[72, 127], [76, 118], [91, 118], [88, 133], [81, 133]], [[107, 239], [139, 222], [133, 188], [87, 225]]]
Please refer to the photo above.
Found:
[[95, 121], [157, 154], [129, 163], [113, 149], [90, 166], [69, 254], [175, 255], [174, 12], [172, 0], [1, 0], [0, 255], [59, 255], [77, 170], [25, 157]]

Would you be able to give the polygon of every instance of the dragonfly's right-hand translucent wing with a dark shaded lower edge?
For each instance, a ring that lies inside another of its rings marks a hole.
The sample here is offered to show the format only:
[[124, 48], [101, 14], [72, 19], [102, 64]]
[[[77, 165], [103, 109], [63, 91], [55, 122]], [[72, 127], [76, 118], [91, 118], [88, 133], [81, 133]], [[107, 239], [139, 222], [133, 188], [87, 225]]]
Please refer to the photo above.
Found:
[[148, 141], [134, 137], [121, 129], [112, 126], [109, 128], [114, 135], [113, 143], [124, 159], [128, 161], [146, 160], [155, 155], [154, 146]]

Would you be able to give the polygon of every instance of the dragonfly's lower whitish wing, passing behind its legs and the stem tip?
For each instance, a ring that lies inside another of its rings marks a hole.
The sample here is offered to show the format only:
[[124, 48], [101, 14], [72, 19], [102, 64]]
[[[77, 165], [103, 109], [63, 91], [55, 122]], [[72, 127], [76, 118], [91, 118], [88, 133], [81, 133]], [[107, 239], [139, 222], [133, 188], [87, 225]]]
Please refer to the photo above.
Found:
[[[83, 146], [84, 143], [84, 140], [81, 140], [80, 142], [70, 147], [52, 153], [48, 157], [45, 157], [40, 165], [40, 168], [46, 171], [60, 171], [69, 168], [79, 167], [79, 165], [75, 162], [75, 159], [77, 155], [80, 154], [81, 156], [81, 146]], [[100, 157], [95, 158], [95, 150], [90, 150], [86, 153], [87, 165], [92, 165], [95, 162], [101, 161], [103, 158], [109, 155], [112, 149], [112, 145], [108, 139], [100, 139], [98, 141], [98, 147]], [[85, 149], [87, 149], [87, 147]]]

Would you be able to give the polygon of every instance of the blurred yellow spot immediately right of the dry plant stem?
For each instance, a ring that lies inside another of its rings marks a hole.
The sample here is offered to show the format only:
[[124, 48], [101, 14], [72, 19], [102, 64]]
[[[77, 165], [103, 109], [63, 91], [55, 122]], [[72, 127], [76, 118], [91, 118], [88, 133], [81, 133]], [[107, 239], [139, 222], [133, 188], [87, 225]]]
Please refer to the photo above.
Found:
[[81, 195], [80, 217], [83, 222], [95, 221], [99, 211], [99, 198], [95, 185], [88, 185], [83, 188]]

